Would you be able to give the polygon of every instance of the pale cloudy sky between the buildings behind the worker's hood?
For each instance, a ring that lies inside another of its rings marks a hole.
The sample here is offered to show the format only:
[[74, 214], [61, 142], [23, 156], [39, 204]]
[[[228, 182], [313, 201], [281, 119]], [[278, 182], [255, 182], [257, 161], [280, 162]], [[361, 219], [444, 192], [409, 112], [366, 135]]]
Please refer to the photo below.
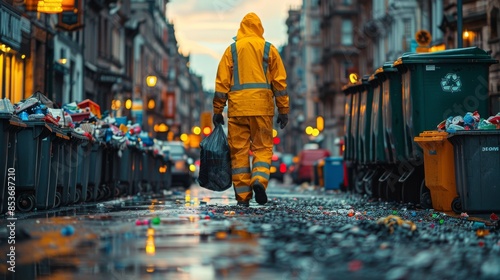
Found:
[[167, 20], [174, 24], [179, 51], [190, 55], [191, 71], [211, 91], [219, 60], [247, 13], [260, 17], [264, 38], [280, 48], [287, 41], [288, 10], [301, 5], [302, 0], [170, 0]]

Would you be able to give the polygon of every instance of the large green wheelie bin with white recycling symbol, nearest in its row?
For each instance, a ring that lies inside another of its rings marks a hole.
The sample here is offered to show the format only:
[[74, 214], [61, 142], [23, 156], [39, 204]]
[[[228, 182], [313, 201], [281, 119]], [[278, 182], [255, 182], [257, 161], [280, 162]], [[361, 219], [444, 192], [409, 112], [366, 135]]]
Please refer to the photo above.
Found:
[[420, 202], [424, 160], [414, 138], [450, 116], [489, 110], [489, 66], [498, 63], [478, 47], [407, 53], [394, 62], [402, 76], [405, 150], [400, 164], [404, 202]]

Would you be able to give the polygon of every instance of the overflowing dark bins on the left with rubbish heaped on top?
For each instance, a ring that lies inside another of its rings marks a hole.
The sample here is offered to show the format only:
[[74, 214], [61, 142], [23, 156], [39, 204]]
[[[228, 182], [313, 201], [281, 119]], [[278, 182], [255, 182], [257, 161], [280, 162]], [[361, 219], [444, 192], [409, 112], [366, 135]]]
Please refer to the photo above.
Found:
[[[159, 170], [169, 163], [161, 141], [127, 117], [101, 112], [92, 100], [59, 105], [35, 92], [14, 104], [0, 99], [0, 117], [7, 167], [29, 170], [24, 180], [16, 182], [19, 211], [110, 199], [138, 190], [159, 191], [169, 184], [169, 171]], [[12, 142], [19, 144], [9, 150]], [[143, 171], [147, 174], [139, 177]], [[132, 182], [132, 174], [140, 182]], [[1, 213], [7, 211], [5, 203], [0, 206]]]

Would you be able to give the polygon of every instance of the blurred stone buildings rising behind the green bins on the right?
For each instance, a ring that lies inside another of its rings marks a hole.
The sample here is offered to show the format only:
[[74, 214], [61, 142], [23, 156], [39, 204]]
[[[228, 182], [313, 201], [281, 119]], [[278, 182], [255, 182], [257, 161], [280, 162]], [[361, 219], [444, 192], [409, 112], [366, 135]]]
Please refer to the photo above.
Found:
[[[316, 36], [316, 19], [319, 36]], [[294, 25], [297, 20], [301, 22], [300, 30]], [[304, 0], [300, 9], [289, 11], [287, 25], [289, 40], [284, 56], [293, 92], [293, 139], [297, 143], [297, 139], [320, 142], [333, 154], [343, 136], [341, 88], [351, 82], [350, 74], [358, 79], [369, 76], [385, 62], [394, 62], [405, 52], [422, 49], [440, 51], [477, 46], [500, 60], [498, 0], [462, 0], [461, 7], [454, 0]], [[430, 35], [427, 45], [417, 43], [417, 33], [421, 31]], [[490, 111], [496, 114], [500, 111], [500, 65], [491, 65], [489, 70]], [[305, 127], [315, 127], [317, 116], [324, 117], [320, 137], [304, 138]], [[299, 145], [291, 148], [294, 153], [301, 149]]]

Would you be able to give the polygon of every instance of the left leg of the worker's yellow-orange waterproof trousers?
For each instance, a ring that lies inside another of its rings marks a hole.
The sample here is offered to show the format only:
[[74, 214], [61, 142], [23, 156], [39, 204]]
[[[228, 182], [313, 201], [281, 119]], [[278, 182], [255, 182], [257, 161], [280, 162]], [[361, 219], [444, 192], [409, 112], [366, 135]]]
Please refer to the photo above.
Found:
[[232, 117], [227, 120], [228, 136], [231, 154], [232, 180], [237, 201], [252, 199], [250, 187], [250, 126], [247, 117]]

